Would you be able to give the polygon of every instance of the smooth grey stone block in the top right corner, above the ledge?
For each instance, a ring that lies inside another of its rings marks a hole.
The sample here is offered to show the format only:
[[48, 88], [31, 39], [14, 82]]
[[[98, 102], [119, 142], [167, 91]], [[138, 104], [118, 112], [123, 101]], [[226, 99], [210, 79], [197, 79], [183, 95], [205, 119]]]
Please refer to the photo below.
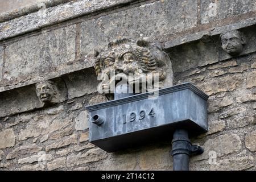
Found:
[[201, 23], [206, 24], [253, 10], [255, 10], [255, 2], [250, 0], [239, 2], [203, 0], [201, 1]]

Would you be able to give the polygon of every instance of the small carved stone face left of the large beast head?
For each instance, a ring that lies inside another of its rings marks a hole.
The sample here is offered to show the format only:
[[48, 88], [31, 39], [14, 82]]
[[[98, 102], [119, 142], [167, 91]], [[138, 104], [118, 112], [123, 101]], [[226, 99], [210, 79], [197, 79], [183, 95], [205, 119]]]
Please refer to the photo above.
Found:
[[57, 87], [53, 81], [44, 81], [36, 84], [36, 94], [40, 101], [49, 103], [57, 93]]

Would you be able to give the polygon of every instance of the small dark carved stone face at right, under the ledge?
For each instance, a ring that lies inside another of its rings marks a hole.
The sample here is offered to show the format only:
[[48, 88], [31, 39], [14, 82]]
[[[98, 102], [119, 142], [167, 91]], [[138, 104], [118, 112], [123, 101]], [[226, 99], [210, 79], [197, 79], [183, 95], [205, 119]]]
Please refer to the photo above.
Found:
[[242, 32], [237, 30], [221, 34], [220, 38], [222, 49], [232, 56], [240, 55], [246, 43]]

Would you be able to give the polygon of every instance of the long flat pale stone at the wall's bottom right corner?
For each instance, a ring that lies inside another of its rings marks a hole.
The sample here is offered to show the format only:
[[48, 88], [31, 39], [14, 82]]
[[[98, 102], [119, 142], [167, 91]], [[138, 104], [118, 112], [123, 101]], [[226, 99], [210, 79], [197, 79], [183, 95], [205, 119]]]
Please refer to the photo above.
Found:
[[217, 165], [210, 165], [210, 170], [242, 171], [253, 167], [255, 165], [254, 163], [253, 156], [217, 160]]

